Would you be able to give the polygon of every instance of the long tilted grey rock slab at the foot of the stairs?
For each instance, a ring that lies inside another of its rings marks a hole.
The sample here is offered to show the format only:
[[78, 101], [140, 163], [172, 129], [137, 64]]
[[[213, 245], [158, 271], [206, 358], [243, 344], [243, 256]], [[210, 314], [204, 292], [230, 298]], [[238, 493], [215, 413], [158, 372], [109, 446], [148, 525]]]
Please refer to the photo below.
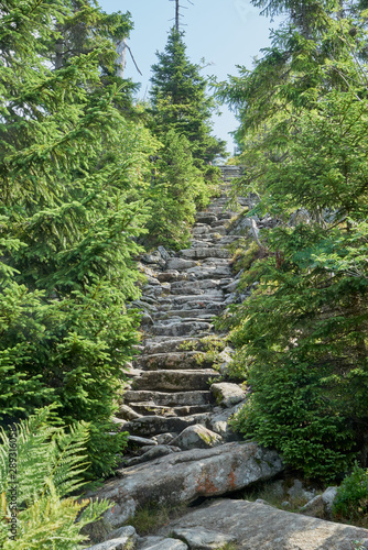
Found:
[[201, 496], [219, 496], [268, 480], [282, 470], [281, 459], [274, 451], [256, 443], [227, 443], [214, 449], [177, 452], [125, 469], [122, 477], [105, 483], [89, 496], [115, 502], [105, 518], [118, 527], [139, 506], [175, 505]]

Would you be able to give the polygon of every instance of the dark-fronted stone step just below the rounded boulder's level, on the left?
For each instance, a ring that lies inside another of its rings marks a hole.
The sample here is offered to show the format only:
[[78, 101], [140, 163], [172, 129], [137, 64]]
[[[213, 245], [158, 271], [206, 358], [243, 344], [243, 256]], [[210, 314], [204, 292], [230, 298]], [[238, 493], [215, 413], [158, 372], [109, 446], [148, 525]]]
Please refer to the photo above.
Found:
[[127, 422], [123, 429], [132, 436], [143, 437], [167, 432], [180, 433], [188, 426], [193, 426], [195, 424], [205, 425], [208, 418], [208, 413], [202, 413], [199, 415], [192, 415], [187, 417], [145, 416]]

